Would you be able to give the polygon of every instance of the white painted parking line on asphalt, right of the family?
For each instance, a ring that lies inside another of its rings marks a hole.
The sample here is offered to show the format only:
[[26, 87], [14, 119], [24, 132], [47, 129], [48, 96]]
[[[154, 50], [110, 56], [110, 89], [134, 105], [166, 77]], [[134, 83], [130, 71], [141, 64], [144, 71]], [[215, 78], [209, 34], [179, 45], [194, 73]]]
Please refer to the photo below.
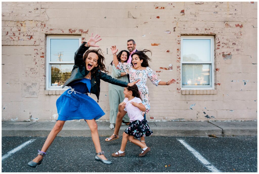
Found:
[[189, 144], [187, 144], [184, 140], [178, 140], [180, 141], [191, 153], [199, 159], [200, 162], [204, 164], [206, 168], [208, 168], [212, 172], [221, 172], [217, 168], [215, 168], [210, 162], [208, 162], [199, 152], [197, 152], [195, 149], [193, 149]]

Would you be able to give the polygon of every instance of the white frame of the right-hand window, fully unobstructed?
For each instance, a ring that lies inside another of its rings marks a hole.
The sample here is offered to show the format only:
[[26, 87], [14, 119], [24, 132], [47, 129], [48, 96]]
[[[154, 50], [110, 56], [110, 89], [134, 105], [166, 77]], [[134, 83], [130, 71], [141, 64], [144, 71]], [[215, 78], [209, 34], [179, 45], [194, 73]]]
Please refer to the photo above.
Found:
[[[210, 39], [211, 40], [211, 61], [183, 61], [183, 39]], [[211, 85], [182, 85], [182, 65], [183, 64], [211, 64], [210, 66], [210, 84]], [[211, 90], [214, 85], [214, 36], [181, 36], [181, 90]]]

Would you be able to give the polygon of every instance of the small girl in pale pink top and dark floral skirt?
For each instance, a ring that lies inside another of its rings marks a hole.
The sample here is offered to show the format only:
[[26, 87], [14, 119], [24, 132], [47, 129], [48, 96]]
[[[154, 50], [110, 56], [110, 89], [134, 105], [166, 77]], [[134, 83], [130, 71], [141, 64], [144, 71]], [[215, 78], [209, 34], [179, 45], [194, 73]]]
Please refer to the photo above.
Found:
[[146, 153], [150, 151], [150, 148], [137, 139], [153, 134], [147, 124], [147, 120], [143, 118], [141, 114], [141, 111], [146, 111], [146, 107], [142, 104], [137, 85], [124, 88], [123, 93], [125, 99], [119, 104], [119, 112], [128, 113], [128, 116], [130, 117], [130, 125], [123, 133], [120, 150], [113, 153], [112, 157], [125, 156], [125, 147], [128, 140], [143, 149], [139, 154], [139, 157], [141, 157], [146, 155]]

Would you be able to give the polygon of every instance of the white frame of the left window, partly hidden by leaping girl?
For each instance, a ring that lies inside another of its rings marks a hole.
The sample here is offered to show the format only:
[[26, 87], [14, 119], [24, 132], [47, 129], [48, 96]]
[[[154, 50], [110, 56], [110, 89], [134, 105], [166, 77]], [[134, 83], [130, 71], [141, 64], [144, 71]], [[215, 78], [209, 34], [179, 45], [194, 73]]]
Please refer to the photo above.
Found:
[[[50, 39], [78, 39], [79, 40], [79, 46], [81, 45], [81, 36], [68, 36], [68, 35], [49, 35], [47, 36], [47, 44], [46, 44], [46, 90], [64, 90], [68, 89], [68, 87], [62, 88], [62, 86], [51, 86], [51, 64], [74, 64], [73, 61], [50, 61]], [[79, 47], [78, 47], [79, 48]], [[76, 52], [76, 50], [75, 50]]]

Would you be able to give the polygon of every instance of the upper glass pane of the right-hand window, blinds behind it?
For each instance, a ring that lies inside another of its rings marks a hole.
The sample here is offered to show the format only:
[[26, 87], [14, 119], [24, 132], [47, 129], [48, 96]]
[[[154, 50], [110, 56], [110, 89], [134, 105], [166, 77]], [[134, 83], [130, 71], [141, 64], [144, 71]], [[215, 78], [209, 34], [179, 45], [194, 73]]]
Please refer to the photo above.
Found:
[[183, 39], [183, 61], [211, 61], [210, 39]]

